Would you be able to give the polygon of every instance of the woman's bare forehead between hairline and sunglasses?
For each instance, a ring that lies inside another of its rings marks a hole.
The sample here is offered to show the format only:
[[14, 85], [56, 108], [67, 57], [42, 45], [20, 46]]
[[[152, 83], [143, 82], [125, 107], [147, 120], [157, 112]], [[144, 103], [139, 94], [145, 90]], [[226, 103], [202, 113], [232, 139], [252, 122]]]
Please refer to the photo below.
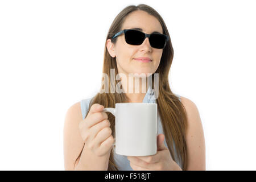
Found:
[[163, 34], [162, 26], [155, 16], [148, 14], [145, 11], [133, 11], [126, 16], [123, 22], [122, 30], [129, 28], [141, 28], [141, 31], [151, 34], [152, 32], [159, 32]]

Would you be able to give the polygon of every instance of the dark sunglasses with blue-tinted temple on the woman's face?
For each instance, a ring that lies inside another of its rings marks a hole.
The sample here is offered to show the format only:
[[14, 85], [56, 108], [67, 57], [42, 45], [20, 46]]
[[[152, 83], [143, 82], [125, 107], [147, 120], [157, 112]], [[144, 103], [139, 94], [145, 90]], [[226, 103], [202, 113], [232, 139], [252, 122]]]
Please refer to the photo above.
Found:
[[157, 49], [163, 49], [164, 47], [166, 47], [166, 44], [169, 40], [168, 35], [158, 34], [158, 33], [146, 34], [139, 30], [133, 30], [133, 29], [125, 29], [125, 30], [119, 31], [117, 32], [117, 34], [115, 34], [112, 37], [112, 39], [122, 34], [125, 34], [125, 41], [127, 44], [141, 45], [144, 42], [144, 40], [148, 38], [150, 42], [150, 46]]

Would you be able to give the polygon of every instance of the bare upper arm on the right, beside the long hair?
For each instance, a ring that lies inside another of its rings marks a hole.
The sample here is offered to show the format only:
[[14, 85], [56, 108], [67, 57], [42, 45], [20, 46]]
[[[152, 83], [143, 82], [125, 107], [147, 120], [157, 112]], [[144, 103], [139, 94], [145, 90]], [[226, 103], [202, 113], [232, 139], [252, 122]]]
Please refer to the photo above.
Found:
[[187, 171], [205, 170], [205, 140], [200, 114], [196, 105], [188, 98], [181, 97], [187, 111], [188, 129], [186, 134], [188, 149]]

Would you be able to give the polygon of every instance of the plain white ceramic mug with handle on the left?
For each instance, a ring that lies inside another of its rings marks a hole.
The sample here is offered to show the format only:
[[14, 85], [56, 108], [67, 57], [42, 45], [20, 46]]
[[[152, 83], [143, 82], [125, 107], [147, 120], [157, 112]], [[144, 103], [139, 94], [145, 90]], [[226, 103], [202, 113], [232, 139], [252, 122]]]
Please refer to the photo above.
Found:
[[115, 153], [126, 156], [155, 155], [157, 104], [117, 103], [103, 111], [115, 116]]

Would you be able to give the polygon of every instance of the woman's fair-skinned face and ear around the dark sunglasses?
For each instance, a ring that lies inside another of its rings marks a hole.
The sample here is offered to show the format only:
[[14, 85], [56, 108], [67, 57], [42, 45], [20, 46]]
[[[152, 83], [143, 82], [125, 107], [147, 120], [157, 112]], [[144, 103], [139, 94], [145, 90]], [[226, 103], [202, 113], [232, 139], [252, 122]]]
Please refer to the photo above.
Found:
[[[125, 22], [121, 30], [130, 28], [141, 28], [142, 32], [151, 34], [152, 32], [160, 32], [163, 34], [162, 26], [158, 19], [146, 13], [145, 11], [133, 11], [126, 16]], [[148, 38], [141, 45], [133, 46], [125, 42], [125, 35], [119, 35], [115, 44], [108, 39], [107, 47], [110, 55], [116, 57], [118, 73], [146, 73], [150, 76], [155, 73], [163, 49], [152, 48]], [[143, 63], [135, 60], [138, 57], [148, 57], [152, 61]]]

